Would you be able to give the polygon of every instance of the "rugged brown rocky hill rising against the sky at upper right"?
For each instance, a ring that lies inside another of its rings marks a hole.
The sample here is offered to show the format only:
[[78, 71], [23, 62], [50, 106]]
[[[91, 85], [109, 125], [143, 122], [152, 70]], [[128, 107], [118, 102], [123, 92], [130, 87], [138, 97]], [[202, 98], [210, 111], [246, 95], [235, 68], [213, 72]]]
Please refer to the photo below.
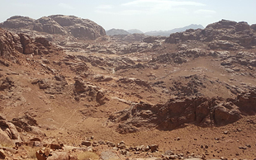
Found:
[[[249, 26], [247, 22], [235, 22], [221, 20], [206, 26], [204, 30], [187, 30], [170, 35], [165, 42], [177, 44], [187, 40], [198, 40], [211, 42], [211, 49], [238, 49], [256, 45], [256, 33], [254, 26]], [[236, 44], [235, 44], [236, 43]]]

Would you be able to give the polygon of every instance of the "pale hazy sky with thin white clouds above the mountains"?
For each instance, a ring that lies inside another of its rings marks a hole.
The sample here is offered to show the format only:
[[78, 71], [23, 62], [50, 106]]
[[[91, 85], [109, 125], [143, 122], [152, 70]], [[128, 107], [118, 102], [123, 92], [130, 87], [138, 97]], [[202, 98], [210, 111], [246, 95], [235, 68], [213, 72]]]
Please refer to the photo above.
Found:
[[0, 22], [11, 16], [55, 14], [95, 21], [105, 30], [168, 31], [221, 19], [256, 24], [256, 0], [0, 0]]

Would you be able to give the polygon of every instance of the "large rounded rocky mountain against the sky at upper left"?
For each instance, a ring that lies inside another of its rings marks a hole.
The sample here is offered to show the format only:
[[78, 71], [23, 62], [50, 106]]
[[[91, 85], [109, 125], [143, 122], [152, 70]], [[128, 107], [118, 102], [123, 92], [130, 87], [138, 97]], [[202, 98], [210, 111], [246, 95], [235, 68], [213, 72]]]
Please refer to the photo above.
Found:
[[30, 35], [40, 35], [40, 33], [71, 35], [74, 38], [84, 40], [95, 40], [106, 35], [102, 26], [88, 19], [77, 16], [53, 15], [43, 16], [34, 20], [27, 16], [12, 16], [0, 24], [0, 27], [28, 33]]

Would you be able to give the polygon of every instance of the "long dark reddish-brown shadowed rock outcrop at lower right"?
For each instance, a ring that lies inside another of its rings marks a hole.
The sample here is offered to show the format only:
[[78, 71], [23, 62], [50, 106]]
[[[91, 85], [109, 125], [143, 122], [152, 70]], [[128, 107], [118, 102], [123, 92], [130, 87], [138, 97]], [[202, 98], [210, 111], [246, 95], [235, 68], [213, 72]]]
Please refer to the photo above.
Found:
[[140, 102], [130, 109], [112, 114], [109, 120], [118, 124], [121, 134], [144, 128], [176, 129], [187, 123], [200, 126], [227, 125], [244, 115], [255, 115], [255, 91], [240, 94], [235, 99], [173, 98], [168, 102], [150, 105]]

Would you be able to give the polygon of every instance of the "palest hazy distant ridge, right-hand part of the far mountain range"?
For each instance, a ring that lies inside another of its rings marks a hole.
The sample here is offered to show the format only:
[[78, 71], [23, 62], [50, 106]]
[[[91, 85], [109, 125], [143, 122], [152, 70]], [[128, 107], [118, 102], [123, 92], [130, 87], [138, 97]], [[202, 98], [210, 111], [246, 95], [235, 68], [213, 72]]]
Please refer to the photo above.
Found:
[[169, 30], [169, 31], [148, 31], [145, 32], [145, 35], [161, 35], [161, 36], [169, 36], [172, 33], [176, 33], [176, 32], [182, 32], [182, 31], [186, 31], [188, 29], [203, 29], [204, 27], [201, 25], [189, 25], [189, 26], [184, 26], [182, 28], [175, 28], [173, 30]]

